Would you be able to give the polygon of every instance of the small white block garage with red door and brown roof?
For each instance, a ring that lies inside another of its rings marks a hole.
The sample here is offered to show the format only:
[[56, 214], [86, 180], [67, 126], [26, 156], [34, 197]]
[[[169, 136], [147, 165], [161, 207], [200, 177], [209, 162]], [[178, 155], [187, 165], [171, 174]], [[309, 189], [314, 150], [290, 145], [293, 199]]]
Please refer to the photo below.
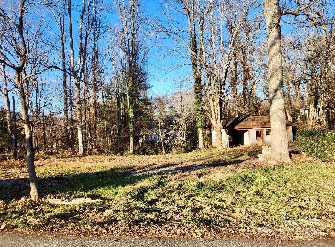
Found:
[[[292, 122], [286, 120], [287, 140], [293, 142]], [[216, 132], [212, 124], [211, 139], [216, 147]], [[222, 147], [229, 145], [264, 145], [271, 144], [270, 116], [226, 117], [223, 119]]]

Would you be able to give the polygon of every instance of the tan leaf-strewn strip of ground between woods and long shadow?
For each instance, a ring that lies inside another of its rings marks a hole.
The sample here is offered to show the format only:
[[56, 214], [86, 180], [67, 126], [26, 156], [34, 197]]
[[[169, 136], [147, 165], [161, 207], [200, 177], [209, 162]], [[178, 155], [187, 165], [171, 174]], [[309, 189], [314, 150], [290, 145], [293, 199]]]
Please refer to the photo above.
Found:
[[[225, 169], [231, 166], [253, 165], [256, 161], [246, 156], [257, 152], [259, 147], [240, 146], [223, 152], [191, 152], [177, 155], [153, 156], [104, 156], [41, 158], [36, 156], [38, 177], [70, 176], [72, 174], [98, 172], [106, 169], [124, 169], [131, 175], [190, 172], [202, 168]], [[0, 163], [0, 180], [28, 178], [24, 160]]]

